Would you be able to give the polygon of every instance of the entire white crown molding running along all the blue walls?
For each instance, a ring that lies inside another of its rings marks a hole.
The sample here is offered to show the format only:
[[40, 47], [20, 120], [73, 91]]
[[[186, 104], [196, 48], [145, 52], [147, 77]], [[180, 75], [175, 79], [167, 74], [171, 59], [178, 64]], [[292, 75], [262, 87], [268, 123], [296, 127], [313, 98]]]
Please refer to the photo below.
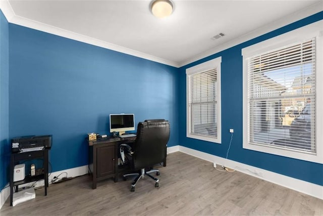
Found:
[[247, 40], [250, 40], [252, 38], [255, 38], [257, 36], [260, 36], [262, 34], [268, 33], [270, 31], [276, 30], [278, 28], [281, 28], [285, 25], [291, 24], [293, 22], [296, 22], [300, 19], [303, 19], [305, 17], [308, 17], [310, 15], [316, 14], [318, 12], [321, 12], [323, 10], [323, 1], [314, 4], [302, 11], [299, 11], [297, 13], [291, 14], [289, 16], [286, 16], [280, 20], [274, 21], [270, 24], [267, 24], [261, 28], [258, 28], [254, 31], [251, 31], [248, 34], [242, 35], [236, 39], [230, 40], [228, 42], [226, 42], [223, 45], [217, 46], [215, 48], [212, 48], [206, 52], [200, 53], [192, 58], [189, 58], [183, 62], [174, 62], [174, 61], [170, 61], [170, 60], [166, 60], [166, 59], [162, 59], [156, 56], [152, 56], [149, 54], [145, 54], [136, 50], [132, 50], [132, 49], [128, 49], [125, 47], [121, 47], [109, 42], [105, 42], [99, 39], [95, 39], [89, 36], [85, 36], [82, 34], [78, 34], [76, 32], [72, 32], [72, 31], [68, 31], [65, 29], [61, 29], [55, 26], [51, 26], [51, 25], [47, 25], [44, 23], [40, 23], [34, 20], [30, 20], [30, 19], [26, 19], [20, 16], [17, 16], [10, 3], [8, 2], [8, 0], [0, 0], [0, 9], [2, 10], [2, 12], [4, 13], [5, 17], [7, 18], [9, 23], [13, 23], [13, 24], [17, 24], [17, 25], [21, 25], [21, 26], [25, 26], [28, 28], [32, 28], [32, 29], [36, 29], [39, 31], [43, 31], [43, 32], [47, 32], [50, 34], [55, 34], [58, 36], [62, 36], [62, 37], [66, 37], [69, 39], [73, 39], [73, 40], [77, 40], [80, 42], [85, 42], [86, 44], [90, 44], [90, 45], [94, 45], [94, 46], [98, 46], [98, 47], [102, 47], [102, 48], [106, 48], [109, 50], [113, 50], [113, 51], [117, 51], [117, 52], [121, 52], [124, 54], [128, 54], [131, 56], [136, 56], [139, 58], [143, 58], [143, 59], [147, 59], [150, 61], [154, 61], [154, 62], [158, 62], [161, 64], [166, 64], [166, 65], [170, 65], [173, 67], [182, 67], [185, 66], [187, 64], [193, 63], [195, 61], [198, 61], [200, 59], [203, 59], [205, 57], [211, 56], [213, 54], [219, 53], [221, 51], [224, 51], [228, 48], [234, 47], [236, 45], [241, 44], [242, 42], [245, 42]]

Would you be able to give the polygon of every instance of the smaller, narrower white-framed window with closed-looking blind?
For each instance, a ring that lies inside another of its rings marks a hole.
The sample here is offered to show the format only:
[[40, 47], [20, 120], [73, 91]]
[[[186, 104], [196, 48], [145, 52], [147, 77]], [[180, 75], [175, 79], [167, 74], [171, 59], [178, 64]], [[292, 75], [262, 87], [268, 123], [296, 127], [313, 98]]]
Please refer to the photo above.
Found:
[[221, 143], [221, 57], [186, 74], [187, 137]]

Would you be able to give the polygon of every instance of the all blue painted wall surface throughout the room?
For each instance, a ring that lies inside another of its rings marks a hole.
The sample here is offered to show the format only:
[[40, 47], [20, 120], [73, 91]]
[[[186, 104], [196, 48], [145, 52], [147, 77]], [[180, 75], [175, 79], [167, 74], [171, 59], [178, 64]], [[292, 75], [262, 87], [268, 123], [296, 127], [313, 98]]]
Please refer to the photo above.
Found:
[[[221, 157], [230, 142], [228, 130], [234, 128], [229, 159], [323, 185], [322, 164], [242, 148], [241, 49], [321, 19], [323, 12], [178, 69], [8, 24], [1, 13], [0, 186], [9, 181], [6, 155], [12, 137], [52, 134], [52, 170], [73, 168], [88, 162], [86, 134], [109, 133], [109, 114], [121, 112], [135, 113], [136, 122], [169, 119], [169, 146], [180, 144]], [[221, 145], [186, 138], [185, 70], [219, 56]]]

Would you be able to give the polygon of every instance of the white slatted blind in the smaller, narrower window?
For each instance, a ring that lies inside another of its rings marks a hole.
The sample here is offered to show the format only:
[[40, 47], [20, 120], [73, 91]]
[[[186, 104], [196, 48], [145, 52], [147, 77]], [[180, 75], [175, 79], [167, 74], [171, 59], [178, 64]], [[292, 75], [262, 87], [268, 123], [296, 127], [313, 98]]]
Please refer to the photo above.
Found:
[[190, 133], [217, 138], [217, 68], [188, 75]]

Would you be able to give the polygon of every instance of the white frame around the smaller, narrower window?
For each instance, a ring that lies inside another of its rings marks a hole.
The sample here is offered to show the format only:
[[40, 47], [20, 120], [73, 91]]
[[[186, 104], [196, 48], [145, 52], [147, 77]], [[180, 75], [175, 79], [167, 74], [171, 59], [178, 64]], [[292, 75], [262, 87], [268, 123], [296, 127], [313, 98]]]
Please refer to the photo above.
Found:
[[[209, 60], [207, 62], [195, 65], [193, 67], [187, 68], [186, 69], [186, 137], [188, 138], [193, 138], [193, 139], [198, 139], [198, 140], [203, 140], [203, 141], [208, 141], [208, 142], [213, 142], [213, 143], [218, 143], [221, 144], [222, 139], [222, 131], [221, 131], [221, 61], [222, 58], [218, 57], [212, 60]], [[190, 129], [191, 129], [191, 109], [189, 107], [189, 101], [190, 101], [190, 90], [191, 86], [189, 83], [189, 78], [188, 76], [196, 74], [196, 73], [201, 73], [205, 72], [208, 70], [212, 70], [214, 68], [217, 68], [217, 138], [214, 137], [207, 137], [207, 136], [202, 136], [202, 135], [195, 135], [191, 134]]]

